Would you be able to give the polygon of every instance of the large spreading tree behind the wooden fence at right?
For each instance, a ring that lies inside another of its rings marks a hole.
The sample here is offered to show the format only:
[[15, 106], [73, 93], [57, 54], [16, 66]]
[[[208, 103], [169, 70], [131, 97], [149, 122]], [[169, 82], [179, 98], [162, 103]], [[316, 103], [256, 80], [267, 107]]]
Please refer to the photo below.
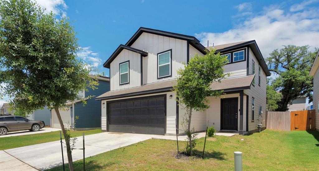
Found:
[[282, 94], [277, 102], [277, 111], [288, 110], [287, 106], [301, 96], [307, 96], [312, 101], [313, 77], [309, 76], [309, 72], [315, 55], [315, 52], [309, 51], [308, 45], [287, 45], [270, 53], [266, 63], [269, 70], [277, 74], [271, 86]]

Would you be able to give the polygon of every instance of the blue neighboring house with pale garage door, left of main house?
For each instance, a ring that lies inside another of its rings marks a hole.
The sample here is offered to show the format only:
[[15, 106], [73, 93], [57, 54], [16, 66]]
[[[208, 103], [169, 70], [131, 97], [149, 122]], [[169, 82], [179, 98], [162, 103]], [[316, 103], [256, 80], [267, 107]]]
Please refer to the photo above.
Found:
[[[104, 76], [97, 77], [99, 85], [97, 89], [88, 91], [80, 91], [79, 95], [86, 101], [83, 106], [82, 100], [69, 102], [66, 107], [59, 109], [64, 127], [72, 127], [75, 122], [75, 130], [88, 130], [101, 128], [101, 108], [100, 102], [94, 98], [110, 90], [110, 79]], [[93, 95], [93, 98], [87, 98]], [[76, 120], [76, 116], [79, 118]], [[75, 121], [76, 120], [76, 121]], [[51, 127], [61, 128], [54, 109], [51, 110]]]

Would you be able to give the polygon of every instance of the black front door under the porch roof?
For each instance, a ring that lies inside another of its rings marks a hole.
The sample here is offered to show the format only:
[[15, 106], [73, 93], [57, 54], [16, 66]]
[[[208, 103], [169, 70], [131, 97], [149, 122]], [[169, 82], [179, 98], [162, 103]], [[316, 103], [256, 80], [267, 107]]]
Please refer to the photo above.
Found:
[[238, 98], [221, 99], [221, 129], [238, 130]]

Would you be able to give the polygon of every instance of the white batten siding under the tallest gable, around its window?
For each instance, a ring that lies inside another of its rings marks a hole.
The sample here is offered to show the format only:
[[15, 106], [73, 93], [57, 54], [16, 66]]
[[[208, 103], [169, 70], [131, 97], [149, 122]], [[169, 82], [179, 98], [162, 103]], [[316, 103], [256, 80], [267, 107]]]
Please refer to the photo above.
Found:
[[[149, 84], [169, 79], [175, 79], [177, 69], [187, 62], [187, 41], [168, 38], [150, 33], [143, 33], [131, 47], [148, 52], [143, 57], [143, 83]], [[157, 54], [172, 49], [172, 76], [157, 79]], [[112, 81], [111, 81], [112, 82]]]

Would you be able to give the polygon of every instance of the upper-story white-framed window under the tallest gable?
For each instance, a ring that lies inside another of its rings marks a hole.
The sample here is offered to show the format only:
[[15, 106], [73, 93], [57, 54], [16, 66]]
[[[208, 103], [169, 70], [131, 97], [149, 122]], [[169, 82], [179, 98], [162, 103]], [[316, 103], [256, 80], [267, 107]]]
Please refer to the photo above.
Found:
[[157, 54], [157, 78], [171, 76], [172, 50], [160, 52]]

